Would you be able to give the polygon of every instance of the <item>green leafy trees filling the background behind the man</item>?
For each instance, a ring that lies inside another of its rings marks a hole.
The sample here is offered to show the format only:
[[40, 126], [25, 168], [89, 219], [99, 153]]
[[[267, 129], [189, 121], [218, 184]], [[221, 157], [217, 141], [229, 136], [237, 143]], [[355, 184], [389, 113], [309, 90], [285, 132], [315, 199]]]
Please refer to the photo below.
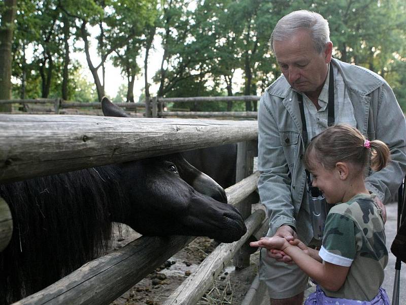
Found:
[[[141, 57], [150, 43], [150, 33], [155, 33], [155, 45], [159, 39], [163, 49], [162, 57], [150, 57], [150, 62], [161, 64], [154, 76], [158, 92], [152, 95], [260, 95], [280, 75], [269, 51], [272, 29], [283, 15], [298, 9], [321, 13], [330, 24], [334, 57], [379, 73], [406, 108], [406, 4], [399, 0], [19, 1], [13, 42], [13, 96], [22, 96], [24, 87], [26, 98], [60, 96], [67, 63], [69, 98], [97, 100], [95, 85], [79, 73], [91, 70], [91, 65], [79, 67], [66, 58], [64, 49], [64, 39], [69, 38], [70, 52], [83, 52], [74, 48], [84, 39], [82, 24], [100, 58], [94, 65], [97, 58], [90, 58], [96, 74], [111, 61], [128, 80], [115, 100], [126, 100], [125, 91], [131, 90], [132, 80], [143, 81]], [[62, 20], [69, 20], [69, 37], [64, 36]], [[243, 83], [232, 85], [241, 71]], [[44, 85], [48, 85], [48, 92]], [[168, 106], [227, 110], [225, 102]], [[245, 103], [234, 102], [231, 109], [245, 110]]]

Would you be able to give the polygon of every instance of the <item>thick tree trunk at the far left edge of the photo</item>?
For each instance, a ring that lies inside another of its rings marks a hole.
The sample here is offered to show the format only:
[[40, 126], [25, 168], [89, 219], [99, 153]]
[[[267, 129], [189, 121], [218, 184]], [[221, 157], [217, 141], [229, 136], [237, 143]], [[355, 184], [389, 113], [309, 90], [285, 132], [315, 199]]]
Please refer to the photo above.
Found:
[[[4, 15], [0, 20], [0, 100], [11, 99], [11, 45], [17, 0], [5, 0]], [[11, 104], [0, 106], [0, 111], [11, 112]]]

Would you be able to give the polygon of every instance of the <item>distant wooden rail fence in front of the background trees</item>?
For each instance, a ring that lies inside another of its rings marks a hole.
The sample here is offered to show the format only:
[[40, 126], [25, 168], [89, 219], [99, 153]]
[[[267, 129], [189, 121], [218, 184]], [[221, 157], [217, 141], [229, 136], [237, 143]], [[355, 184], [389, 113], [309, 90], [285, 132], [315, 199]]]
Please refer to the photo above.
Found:
[[[155, 97], [146, 99], [145, 103], [115, 103], [117, 106], [126, 110], [135, 110], [142, 108], [145, 111], [145, 117], [221, 117], [221, 118], [239, 118], [239, 119], [255, 119], [257, 118], [256, 111], [163, 111], [165, 103], [206, 103], [206, 102], [230, 102], [230, 101], [258, 101], [258, 96], [232, 96], [232, 97], [190, 97], [190, 98], [161, 98]], [[100, 109], [100, 103], [79, 103], [72, 101], [64, 101], [62, 99], [26, 99], [26, 100], [0, 100], [2, 104], [47, 104], [53, 105], [53, 113], [59, 114], [62, 109], [68, 108], [93, 108]], [[44, 109], [45, 110], [45, 109]]]

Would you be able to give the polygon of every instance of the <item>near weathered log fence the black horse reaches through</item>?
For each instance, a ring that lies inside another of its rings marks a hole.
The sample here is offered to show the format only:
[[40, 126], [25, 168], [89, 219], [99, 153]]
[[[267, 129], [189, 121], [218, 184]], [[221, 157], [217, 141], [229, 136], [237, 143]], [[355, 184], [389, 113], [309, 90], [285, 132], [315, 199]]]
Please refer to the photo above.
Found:
[[[256, 121], [0, 114], [0, 130], [0, 183], [238, 142], [236, 176], [241, 181], [226, 195], [243, 215], [251, 214], [244, 201], [256, 190], [259, 176], [252, 173]], [[166, 304], [194, 304], [251, 235], [263, 236], [264, 218], [262, 210], [249, 215], [247, 233], [219, 245]], [[191, 240], [142, 236], [16, 304], [108, 304]]]

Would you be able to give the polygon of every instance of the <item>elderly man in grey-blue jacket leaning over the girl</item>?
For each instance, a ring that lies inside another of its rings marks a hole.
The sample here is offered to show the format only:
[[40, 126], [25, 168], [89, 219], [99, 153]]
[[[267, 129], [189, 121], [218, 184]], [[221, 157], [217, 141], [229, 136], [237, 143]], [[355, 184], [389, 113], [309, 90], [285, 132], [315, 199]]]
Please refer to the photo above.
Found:
[[[391, 163], [365, 178], [381, 206], [406, 172], [406, 124], [392, 89], [376, 73], [333, 59], [329, 32], [327, 20], [309, 11], [279, 20], [270, 43], [283, 75], [266, 89], [258, 111], [258, 189], [269, 216], [267, 236], [298, 237], [314, 246], [320, 240], [312, 230], [302, 162], [312, 137], [345, 123], [387, 143]], [[259, 270], [271, 303], [301, 304], [308, 277], [284, 253], [272, 256], [261, 250]]]

